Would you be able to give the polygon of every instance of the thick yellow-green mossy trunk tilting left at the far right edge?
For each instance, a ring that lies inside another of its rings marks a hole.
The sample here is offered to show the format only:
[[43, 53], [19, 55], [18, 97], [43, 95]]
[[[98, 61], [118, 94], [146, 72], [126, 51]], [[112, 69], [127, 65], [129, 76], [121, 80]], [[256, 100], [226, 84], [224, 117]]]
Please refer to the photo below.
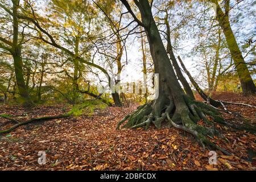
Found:
[[232, 28], [229, 22], [229, 0], [225, 2], [225, 13], [221, 10], [217, 0], [210, 0], [217, 6], [217, 20], [224, 32], [226, 42], [228, 43], [229, 51], [236, 65], [238, 77], [240, 78], [243, 95], [248, 96], [256, 93], [256, 87], [251, 78], [249, 69], [246, 66], [245, 60], [243, 59], [240, 48], [238, 47], [236, 38], [233, 34]]

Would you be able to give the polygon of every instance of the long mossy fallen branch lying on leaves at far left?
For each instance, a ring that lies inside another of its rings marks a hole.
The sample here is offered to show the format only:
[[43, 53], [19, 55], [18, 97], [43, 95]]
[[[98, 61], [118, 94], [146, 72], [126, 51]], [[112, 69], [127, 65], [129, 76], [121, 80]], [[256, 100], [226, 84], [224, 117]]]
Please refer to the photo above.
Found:
[[29, 119], [28, 121], [19, 122], [18, 124], [10, 127], [10, 129], [0, 131], [0, 134], [10, 133], [11, 131], [15, 130], [19, 126], [27, 125], [28, 123], [32, 123], [35, 121], [46, 121], [46, 120], [50, 120], [50, 119], [66, 118], [66, 117], [69, 117], [69, 115], [71, 115], [71, 114], [62, 114], [62, 115], [55, 115], [55, 116], [48, 116], [48, 117], [32, 118], [32, 119]]

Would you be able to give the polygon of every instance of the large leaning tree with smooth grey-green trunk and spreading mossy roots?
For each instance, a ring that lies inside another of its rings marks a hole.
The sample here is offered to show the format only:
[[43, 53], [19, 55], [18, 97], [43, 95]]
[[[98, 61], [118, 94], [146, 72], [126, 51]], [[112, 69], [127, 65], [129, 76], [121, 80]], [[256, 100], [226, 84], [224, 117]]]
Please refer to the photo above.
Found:
[[[220, 137], [220, 133], [213, 125], [214, 122], [227, 122], [221, 118], [217, 108], [193, 100], [181, 88], [152, 15], [152, 1], [149, 3], [148, 0], [134, 0], [135, 7], [141, 14], [141, 20], [135, 15], [129, 2], [120, 1], [147, 34], [155, 73], [159, 74], [159, 97], [148, 104], [139, 106], [134, 113], [127, 115], [118, 123], [117, 129], [126, 121], [123, 127], [130, 129], [139, 127], [148, 129], [151, 123], [156, 128], [174, 126], [194, 135], [203, 146], [218, 148], [228, 154], [207, 138], [207, 136]], [[209, 127], [199, 125], [200, 120]]]

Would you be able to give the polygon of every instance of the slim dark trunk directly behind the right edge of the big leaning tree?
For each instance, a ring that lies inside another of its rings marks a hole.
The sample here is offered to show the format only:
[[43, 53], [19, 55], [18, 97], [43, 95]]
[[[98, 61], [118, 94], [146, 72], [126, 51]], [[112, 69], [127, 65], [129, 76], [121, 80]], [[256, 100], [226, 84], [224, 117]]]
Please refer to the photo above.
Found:
[[191, 90], [191, 87], [189, 86], [186, 78], [181, 73], [179, 64], [177, 63], [176, 57], [174, 56], [174, 51], [172, 50], [171, 31], [170, 31], [170, 25], [169, 25], [167, 16], [166, 16], [165, 22], [166, 22], [166, 27], [167, 27], [167, 32], [166, 32], [166, 34], [167, 34], [167, 52], [170, 55], [172, 65], [174, 65], [174, 69], [176, 71], [177, 78], [179, 78], [181, 84], [183, 85], [185, 93], [189, 97], [191, 97], [193, 100], [195, 100], [195, 96]]

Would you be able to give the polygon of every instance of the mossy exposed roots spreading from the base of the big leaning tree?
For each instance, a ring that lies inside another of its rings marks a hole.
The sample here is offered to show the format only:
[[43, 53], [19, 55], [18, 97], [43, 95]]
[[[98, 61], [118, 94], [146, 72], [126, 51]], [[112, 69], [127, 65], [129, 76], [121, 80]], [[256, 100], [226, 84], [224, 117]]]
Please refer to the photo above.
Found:
[[[220, 131], [214, 127], [214, 123], [228, 125], [235, 129], [253, 130], [255, 127], [249, 125], [236, 125], [235, 123], [227, 122], [221, 117], [221, 113], [213, 106], [191, 100], [184, 96], [187, 108], [177, 110], [172, 99], [166, 102], [166, 98], [159, 98], [158, 100], [151, 101], [148, 104], [139, 106], [133, 114], [127, 115], [122, 121], [118, 123], [117, 129], [120, 128], [122, 123], [127, 121], [123, 127], [129, 129], [137, 129], [139, 127], [148, 127], [153, 124], [158, 129], [160, 127], [172, 127], [176, 129], [187, 131], [191, 133], [203, 147], [216, 148], [226, 155], [231, 155], [223, 148], [210, 142], [209, 137], [221, 137]], [[203, 121], [207, 126], [198, 125], [197, 122]]]

